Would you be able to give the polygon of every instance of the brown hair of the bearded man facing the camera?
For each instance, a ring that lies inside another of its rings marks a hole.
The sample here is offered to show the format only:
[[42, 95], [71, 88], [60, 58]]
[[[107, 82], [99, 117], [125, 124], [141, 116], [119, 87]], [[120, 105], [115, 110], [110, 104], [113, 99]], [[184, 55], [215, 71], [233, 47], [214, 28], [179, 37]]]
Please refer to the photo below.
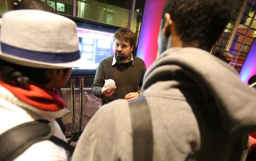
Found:
[[129, 28], [120, 28], [115, 32], [113, 40], [128, 41], [131, 46], [135, 45], [136, 37], [135, 34]]

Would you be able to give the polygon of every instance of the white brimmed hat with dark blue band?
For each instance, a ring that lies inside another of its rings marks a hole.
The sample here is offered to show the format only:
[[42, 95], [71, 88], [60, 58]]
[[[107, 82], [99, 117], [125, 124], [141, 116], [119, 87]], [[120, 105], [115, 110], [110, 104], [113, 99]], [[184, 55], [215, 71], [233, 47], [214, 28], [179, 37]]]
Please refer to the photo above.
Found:
[[77, 68], [84, 63], [76, 24], [40, 10], [8, 11], [1, 26], [0, 58], [36, 68]]

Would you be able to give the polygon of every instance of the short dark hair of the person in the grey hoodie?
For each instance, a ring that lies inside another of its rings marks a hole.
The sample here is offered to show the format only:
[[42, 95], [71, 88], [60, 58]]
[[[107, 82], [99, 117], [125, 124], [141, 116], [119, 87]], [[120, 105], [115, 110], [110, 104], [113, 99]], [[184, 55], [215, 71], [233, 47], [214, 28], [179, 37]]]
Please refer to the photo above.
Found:
[[169, 13], [185, 47], [197, 45], [209, 52], [232, 11], [232, 0], [167, 0], [162, 20]]

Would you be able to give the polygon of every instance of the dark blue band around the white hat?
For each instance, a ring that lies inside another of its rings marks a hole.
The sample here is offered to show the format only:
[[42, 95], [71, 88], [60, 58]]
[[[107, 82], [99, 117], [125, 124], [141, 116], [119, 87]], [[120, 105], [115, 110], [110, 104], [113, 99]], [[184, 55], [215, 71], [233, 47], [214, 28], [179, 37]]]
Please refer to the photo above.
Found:
[[1, 52], [10, 54], [12, 56], [44, 63], [69, 63], [76, 61], [81, 57], [79, 50], [76, 52], [65, 53], [38, 52], [21, 49], [15, 46], [7, 45], [5, 43], [1, 43]]

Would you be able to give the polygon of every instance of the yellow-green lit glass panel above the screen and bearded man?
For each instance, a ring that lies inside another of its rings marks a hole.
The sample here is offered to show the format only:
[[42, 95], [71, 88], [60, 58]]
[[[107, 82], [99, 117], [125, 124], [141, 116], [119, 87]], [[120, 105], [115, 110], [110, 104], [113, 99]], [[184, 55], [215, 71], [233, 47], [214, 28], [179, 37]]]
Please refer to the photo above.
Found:
[[[139, 37], [145, 0], [77, 0], [76, 17], [130, 28]], [[133, 54], [136, 55], [137, 43]]]

